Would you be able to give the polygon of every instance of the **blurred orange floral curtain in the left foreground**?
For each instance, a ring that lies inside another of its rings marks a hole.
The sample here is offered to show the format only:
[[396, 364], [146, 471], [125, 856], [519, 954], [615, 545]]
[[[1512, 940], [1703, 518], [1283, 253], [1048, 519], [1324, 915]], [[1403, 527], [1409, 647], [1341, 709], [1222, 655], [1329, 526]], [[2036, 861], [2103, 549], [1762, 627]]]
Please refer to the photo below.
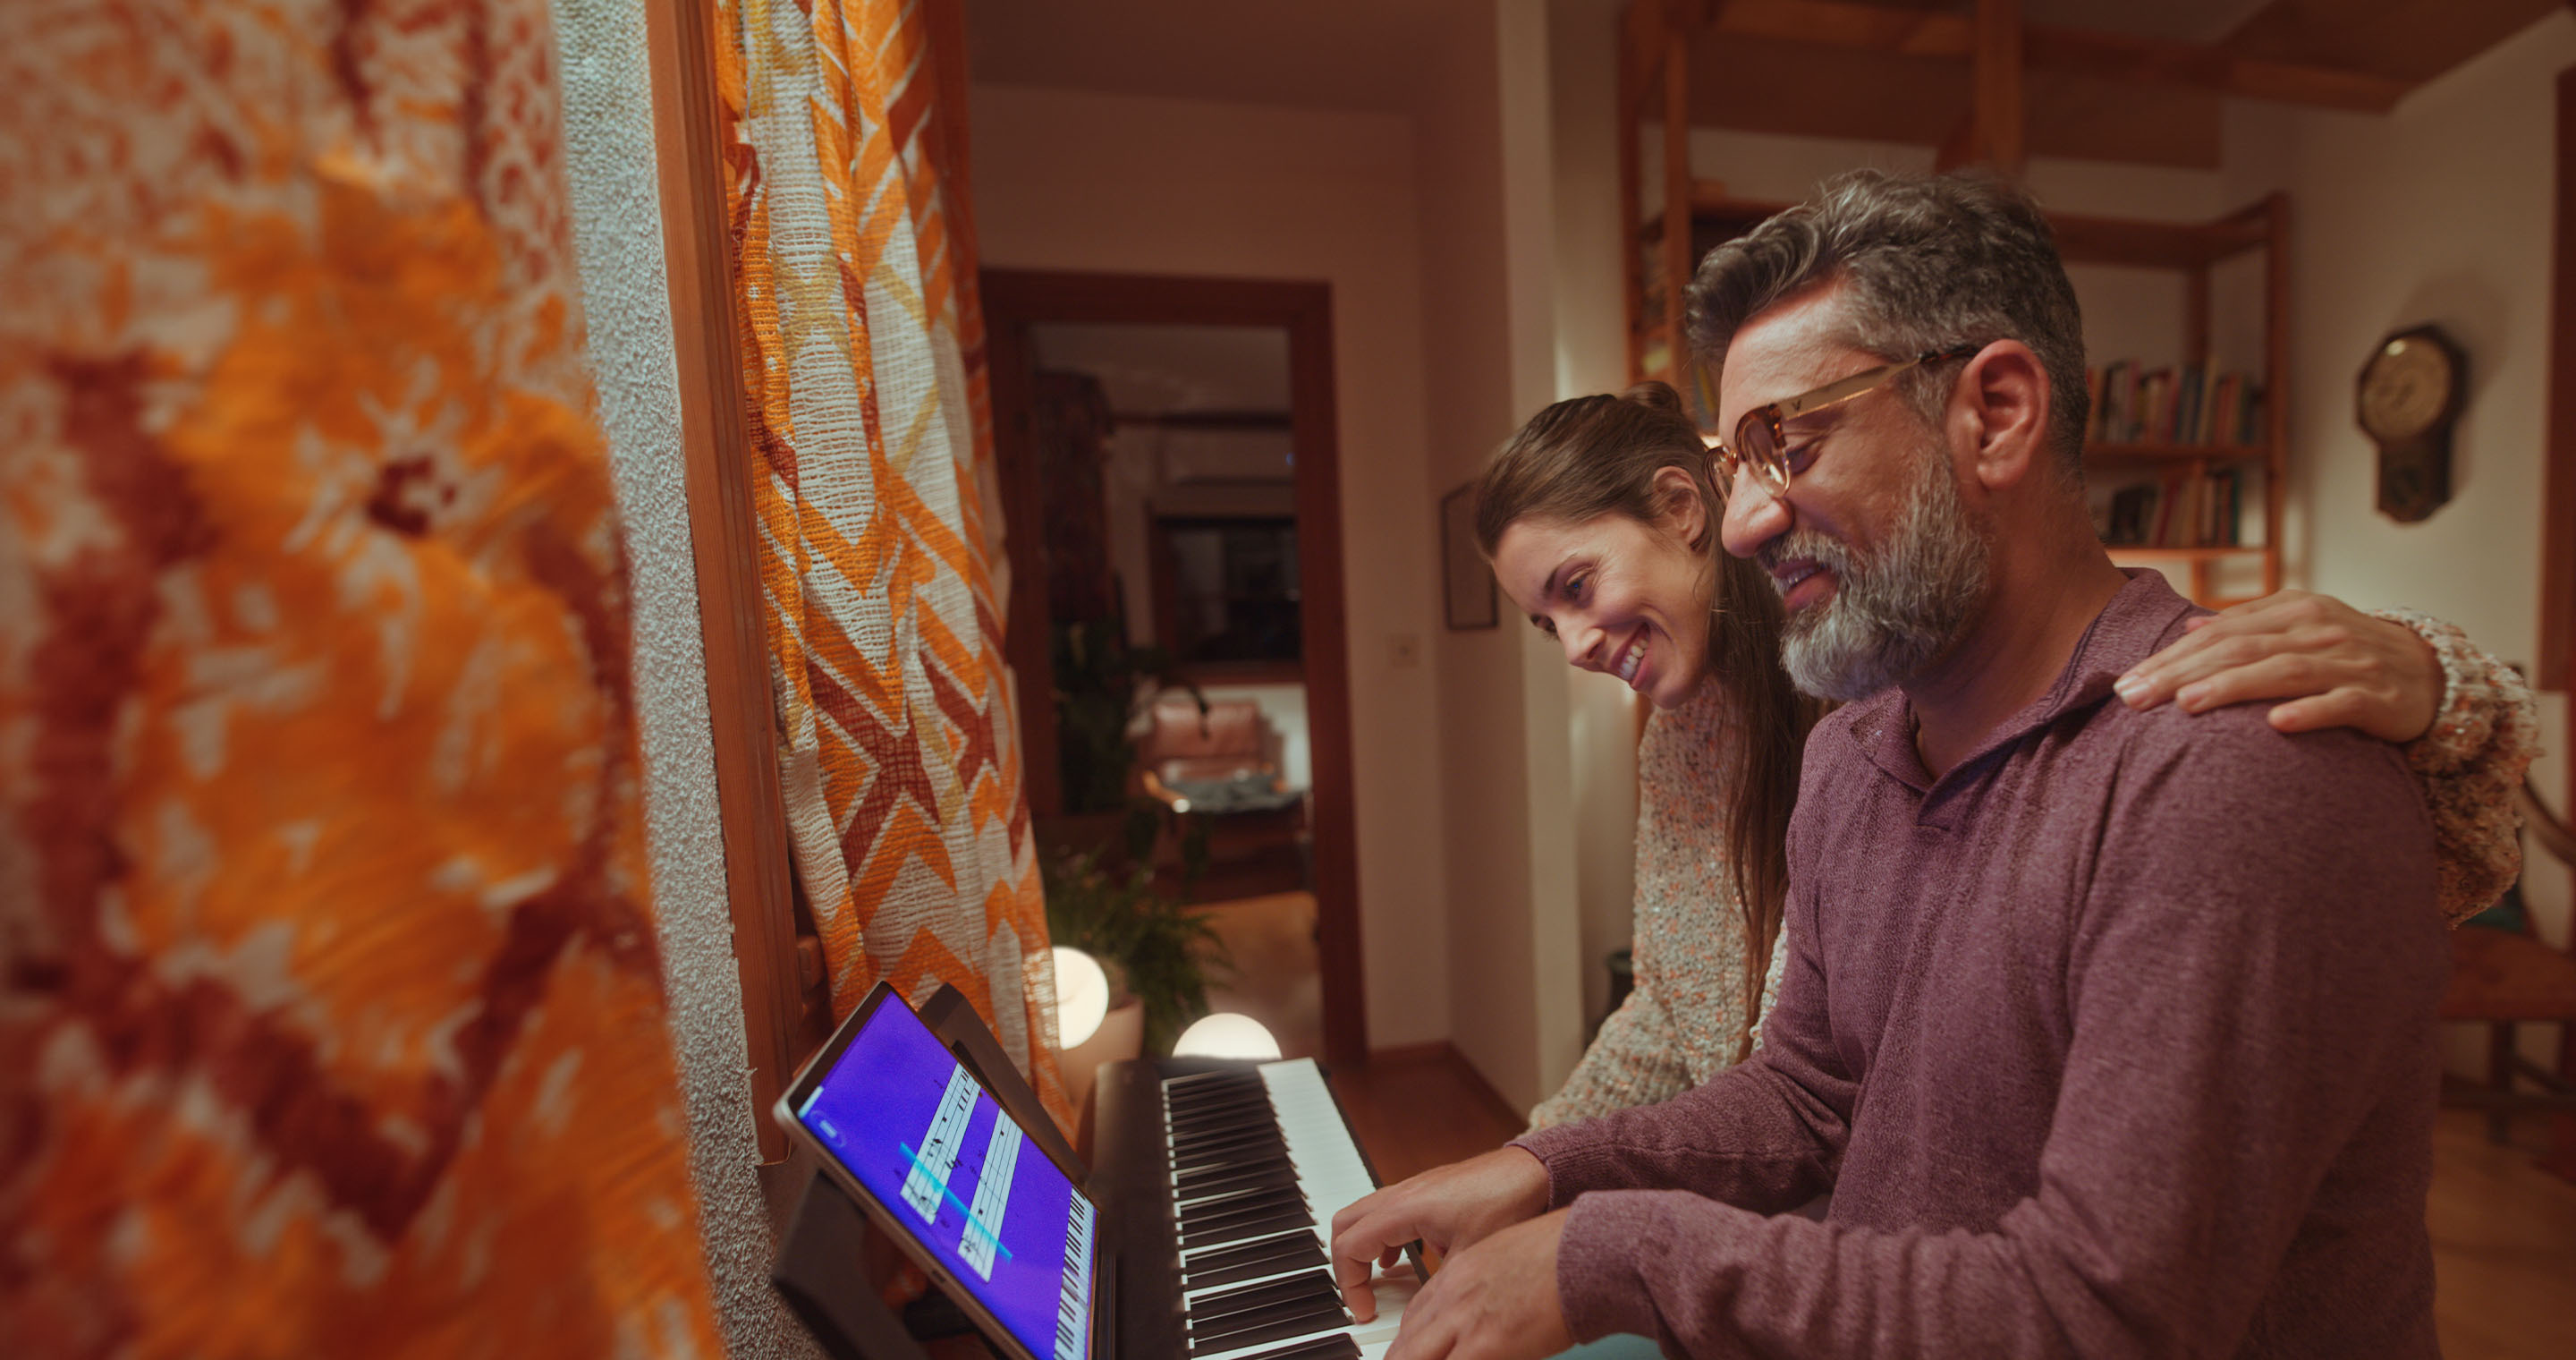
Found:
[[0, 8], [0, 1350], [711, 1355], [544, 0]]

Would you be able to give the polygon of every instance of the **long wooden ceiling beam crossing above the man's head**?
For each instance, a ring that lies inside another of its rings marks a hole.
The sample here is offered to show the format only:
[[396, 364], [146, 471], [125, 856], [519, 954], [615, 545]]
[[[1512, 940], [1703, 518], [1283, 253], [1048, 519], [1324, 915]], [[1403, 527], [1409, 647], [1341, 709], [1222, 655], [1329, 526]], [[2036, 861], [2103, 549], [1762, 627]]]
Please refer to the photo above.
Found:
[[[1855, 0], [1726, 0], [1708, 15], [1718, 33], [1971, 59], [1976, 21], [1965, 13], [1896, 10]], [[2213, 44], [2133, 39], [2089, 28], [2032, 23], [2022, 28], [2032, 70], [2063, 70], [2133, 85], [2177, 85], [2221, 95], [2316, 108], [2385, 113], [2414, 85], [2385, 75], [2264, 62]]]

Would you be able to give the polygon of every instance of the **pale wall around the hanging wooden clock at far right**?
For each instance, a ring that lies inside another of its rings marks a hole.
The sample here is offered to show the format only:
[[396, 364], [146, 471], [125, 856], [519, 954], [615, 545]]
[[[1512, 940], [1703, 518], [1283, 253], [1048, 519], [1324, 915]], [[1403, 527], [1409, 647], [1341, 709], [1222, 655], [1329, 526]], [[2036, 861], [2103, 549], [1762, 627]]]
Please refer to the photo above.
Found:
[[[2244, 126], [2282, 175], [2295, 214], [2293, 582], [2429, 610], [2524, 665], [2540, 644], [2555, 80], [2571, 64], [2576, 18], [2561, 10], [2383, 118], [2246, 111], [2228, 129], [2236, 144]], [[2375, 451], [2352, 420], [2352, 379], [2370, 345], [2416, 322], [2468, 350], [2470, 397], [2452, 502], [2401, 525], [2372, 507]], [[2566, 750], [2563, 695], [2543, 695], [2543, 732], [2550, 752]], [[2566, 791], [2561, 760], [2532, 770], [2553, 796]], [[2543, 932], [2566, 945], [2566, 873], [2535, 865], [2527, 889]]]

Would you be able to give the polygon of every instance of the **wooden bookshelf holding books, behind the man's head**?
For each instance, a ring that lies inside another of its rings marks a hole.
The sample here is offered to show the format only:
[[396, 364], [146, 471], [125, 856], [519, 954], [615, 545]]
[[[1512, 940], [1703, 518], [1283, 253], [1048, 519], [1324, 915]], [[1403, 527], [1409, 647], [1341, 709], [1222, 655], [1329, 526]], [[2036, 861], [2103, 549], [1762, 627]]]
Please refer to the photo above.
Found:
[[[1633, 203], [1636, 198], [1631, 198]], [[1749, 232], [1788, 203], [1734, 198], [1726, 185], [1687, 178], [1667, 193], [1664, 211], [1633, 219], [1628, 250], [1628, 373], [1674, 381], [1682, 296], [1669, 281], [1718, 245]], [[2184, 497], [2197, 515], [2200, 497], [2233, 495], [2233, 513], [2215, 513], [2223, 528], [2187, 525], [2159, 536], [2156, 546], [2123, 543], [2110, 554], [2125, 567], [2166, 567], [2197, 603], [2226, 608], [2280, 590], [2282, 495], [2287, 489], [2287, 196], [2272, 193], [2215, 222], [2133, 222], [2050, 214], [2058, 255], [2071, 265], [2128, 265], [2182, 276], [2182, 355], [2177, 368], [2210, 373], [2210, 270], [2223, 260], [2262, 258], [2262, 353], [2246, 373], [2259, 389], [2251, 438], [2215, 443], [2089, 440], [2087, 482], [2154, 484], [2161, 497]], [[2105, 355], [2117, 358], [2117, 355]], [[2215, 376], [2215, 373], [2210, 373]], [[2246, 489], [2254, 489], [2246, 495]], [[2226, 541], [2241, 538], [2241, 541]], [[2259, 582], [2259, 590], [2254, 590]]]

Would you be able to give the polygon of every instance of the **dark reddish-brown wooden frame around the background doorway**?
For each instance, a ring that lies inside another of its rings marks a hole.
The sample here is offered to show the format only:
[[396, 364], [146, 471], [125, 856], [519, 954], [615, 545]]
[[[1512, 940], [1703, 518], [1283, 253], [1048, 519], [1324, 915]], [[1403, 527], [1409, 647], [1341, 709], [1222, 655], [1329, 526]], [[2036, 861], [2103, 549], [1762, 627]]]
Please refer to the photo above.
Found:
[[1360, 845], [1350, 755], [1350, 639], [1342, 631], [1342, 453], [1332, 389], [1332, 286], [1262, 278], [984, 270], [992, 433], [1010, 554], [1005, 652], [1018, 672], [1020, 755], [1030, 814], [1064, 809], [1056, 775], [1054, 662], [1046, 554], [1030, 430], [1036, 322], [1247, 325], [1288, 332], [1296, 448], [1298, 618], [1306, 649], [1306, 729], [1314, 747], [1316, 974], [1324, 984], [1324, 1061], [1368, 1061], [1360, 984]]

